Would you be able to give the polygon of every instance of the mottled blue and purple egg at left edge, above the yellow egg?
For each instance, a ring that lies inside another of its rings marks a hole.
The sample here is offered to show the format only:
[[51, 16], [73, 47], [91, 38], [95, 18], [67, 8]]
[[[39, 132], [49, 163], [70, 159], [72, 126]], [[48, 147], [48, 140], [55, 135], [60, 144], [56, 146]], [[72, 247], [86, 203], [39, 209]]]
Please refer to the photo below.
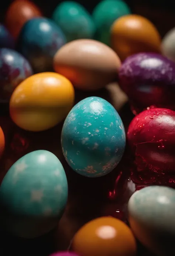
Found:
[[32, 75], [32, 68], [20, 53], [12, 49], [0, 49], [0, 100], [8, 101], [14, 89]]

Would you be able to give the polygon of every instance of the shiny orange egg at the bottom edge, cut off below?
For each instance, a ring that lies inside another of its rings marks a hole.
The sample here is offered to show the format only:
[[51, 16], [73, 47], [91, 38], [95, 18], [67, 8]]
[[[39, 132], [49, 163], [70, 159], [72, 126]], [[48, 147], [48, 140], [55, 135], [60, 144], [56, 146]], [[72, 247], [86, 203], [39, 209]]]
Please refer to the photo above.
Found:
[[134, 256], [136, 242], [124, 222], [101, 217], [79, 229], [73, 238], [72, 249], [81, 256]]

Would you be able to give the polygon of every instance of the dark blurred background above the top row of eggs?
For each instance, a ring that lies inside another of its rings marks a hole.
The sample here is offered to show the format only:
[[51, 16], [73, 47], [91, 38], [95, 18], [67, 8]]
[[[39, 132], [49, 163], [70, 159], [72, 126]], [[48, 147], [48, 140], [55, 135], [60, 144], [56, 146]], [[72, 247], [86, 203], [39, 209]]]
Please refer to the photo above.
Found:
[[[90, 13], [99, 3], [99, 0], [76, 0], [82, 4]], [[130, 6], [132, 13], [143, 15], [150, 19], [158, 28], [161, 36], [175, 26], [175, 1], [174, 0], [125, 0]], [[4, 16], [12, 1], [3, 0], [0, 7], [0, 22], [3, 23]], [[56, 0], [35, 0], [44, 16], [51, 17], [54, 8], [61, 2]]]

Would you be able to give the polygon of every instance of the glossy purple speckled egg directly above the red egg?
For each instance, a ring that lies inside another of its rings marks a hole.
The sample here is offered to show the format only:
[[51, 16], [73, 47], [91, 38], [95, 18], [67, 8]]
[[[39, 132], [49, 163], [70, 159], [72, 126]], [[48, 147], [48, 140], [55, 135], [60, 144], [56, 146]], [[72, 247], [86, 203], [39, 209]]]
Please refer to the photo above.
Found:
[[121, 65], [119, 84], [134, 115], [151, 107], [175, 110], [175, 63], [160, 54], [128, 57]]

